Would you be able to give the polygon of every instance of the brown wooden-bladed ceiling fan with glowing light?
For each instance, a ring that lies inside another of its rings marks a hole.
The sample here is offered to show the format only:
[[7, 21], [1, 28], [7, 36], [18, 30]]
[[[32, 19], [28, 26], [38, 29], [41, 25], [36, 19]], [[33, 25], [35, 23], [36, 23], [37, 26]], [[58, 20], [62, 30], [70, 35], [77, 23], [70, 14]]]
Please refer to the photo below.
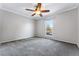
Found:
[[49, 12], [50, 10], [42, 10], [42, 4], [41, 3], [38, 3], [35, 7], [34, 10], [32, 9], [25, 9], [27, 11], [33, 11], [34, 13], [32, 14], [32, 16], [34, 15], [40, 15], [41, 17], [43, 16], [42, 13], [45, 13], [45, 12]]

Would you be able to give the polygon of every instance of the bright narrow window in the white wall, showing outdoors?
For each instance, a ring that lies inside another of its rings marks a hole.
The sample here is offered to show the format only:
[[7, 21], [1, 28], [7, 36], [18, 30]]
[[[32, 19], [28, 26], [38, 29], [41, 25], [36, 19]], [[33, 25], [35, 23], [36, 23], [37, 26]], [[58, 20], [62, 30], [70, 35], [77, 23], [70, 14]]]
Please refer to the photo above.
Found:
[[46, 25], [46, 28], [45, 28], [46, 35], [52, 35], [54, 31], [54, 21], [46, 20], [45, 25]]

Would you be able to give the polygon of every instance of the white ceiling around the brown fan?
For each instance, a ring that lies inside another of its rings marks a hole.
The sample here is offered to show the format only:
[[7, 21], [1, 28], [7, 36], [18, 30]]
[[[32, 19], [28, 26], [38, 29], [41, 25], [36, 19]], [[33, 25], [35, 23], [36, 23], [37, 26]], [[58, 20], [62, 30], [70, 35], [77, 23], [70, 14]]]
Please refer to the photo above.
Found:
[[[28, 18], [41, 18], [38, 15], [31, 16], [33, 12], [25, 10], [26, 8], [34, 9], [36, 5], [35, 3], [1, 3], [0, 5], [0, 8], [4, 10], [14, 12]], [[56, 12], [67, 11], [76, 8], [77, 6], [77, 3], [43, 3], [43, 7], [50, 10], [49, 13], [43, 13], [43, 17], [49, 17]]]

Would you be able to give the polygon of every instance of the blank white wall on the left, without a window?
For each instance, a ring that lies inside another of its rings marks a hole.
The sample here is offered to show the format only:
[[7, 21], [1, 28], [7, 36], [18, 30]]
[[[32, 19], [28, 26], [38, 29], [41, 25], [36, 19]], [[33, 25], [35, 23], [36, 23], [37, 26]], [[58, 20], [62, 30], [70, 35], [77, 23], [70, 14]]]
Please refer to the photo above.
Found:
[[0, 12], [2, 13], [0, 13], [0, 16], [2, 16], [0, 43], [34, 36], [33, 20], [7, 11], [0, 10]]

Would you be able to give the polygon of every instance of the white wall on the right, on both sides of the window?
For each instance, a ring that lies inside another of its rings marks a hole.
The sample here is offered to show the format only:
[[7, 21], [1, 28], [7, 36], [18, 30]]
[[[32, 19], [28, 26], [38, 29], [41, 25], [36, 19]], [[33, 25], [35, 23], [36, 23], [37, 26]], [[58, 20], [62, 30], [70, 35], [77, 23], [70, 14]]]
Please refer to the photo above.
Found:
[[[55, 21], [55, 32], [51, 36], [53, 39], [69, 43], [77, 42], [77, 9], [57, 14], [50, 19]], [[44, 37], [44, 20], [38, 20], [37, 22], [37, 35]]]

